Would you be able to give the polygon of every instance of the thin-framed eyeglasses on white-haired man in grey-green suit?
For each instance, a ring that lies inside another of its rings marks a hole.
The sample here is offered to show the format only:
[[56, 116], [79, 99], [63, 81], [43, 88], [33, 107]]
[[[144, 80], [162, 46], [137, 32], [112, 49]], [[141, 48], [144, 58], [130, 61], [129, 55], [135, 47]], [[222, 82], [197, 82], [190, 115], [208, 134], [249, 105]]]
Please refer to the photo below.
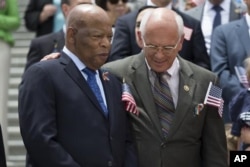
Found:
[[164, 55], [170, 54], [173, 50], [177, 48], [177, 45], [180, 42], [180, 38], [178, 38], [177, 43], [174, 46], [156, 46], [156, 45], [147, 45], [142, 38], [143, 46], [144, 48], [147, 48], [152, 53], [157, 53], [160, 49], [162, 50], [162, 53]]

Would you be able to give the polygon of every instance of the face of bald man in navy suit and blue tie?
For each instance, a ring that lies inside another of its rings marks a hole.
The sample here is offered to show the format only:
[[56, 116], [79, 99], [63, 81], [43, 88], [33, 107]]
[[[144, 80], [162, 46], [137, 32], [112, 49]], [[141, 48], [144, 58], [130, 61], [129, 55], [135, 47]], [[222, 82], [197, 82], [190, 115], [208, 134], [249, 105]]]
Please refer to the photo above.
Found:
[[83, 28], [69, 28], [67, 35], [72, 52], [89, 68], [96, 70], [107, 60], [112, 38], [108, 16], [88, 21]]

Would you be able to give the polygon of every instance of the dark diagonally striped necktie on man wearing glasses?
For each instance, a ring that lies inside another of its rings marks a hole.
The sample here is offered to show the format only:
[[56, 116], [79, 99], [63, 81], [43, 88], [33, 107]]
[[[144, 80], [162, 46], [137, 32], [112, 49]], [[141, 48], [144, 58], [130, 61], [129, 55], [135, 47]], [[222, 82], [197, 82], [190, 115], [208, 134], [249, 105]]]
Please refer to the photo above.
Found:
[[154, 83], [154, 98], [164, 137], [167, 137], [174, 117], [174, 103], [166, 80], [166, 73], [157, 74]]

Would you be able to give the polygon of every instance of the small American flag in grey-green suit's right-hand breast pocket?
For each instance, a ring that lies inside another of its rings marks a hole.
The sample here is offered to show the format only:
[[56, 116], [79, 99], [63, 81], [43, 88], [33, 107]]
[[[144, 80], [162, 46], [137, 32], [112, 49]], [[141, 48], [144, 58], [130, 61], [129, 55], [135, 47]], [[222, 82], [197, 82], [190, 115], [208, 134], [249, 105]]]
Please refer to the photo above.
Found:
[[222, 117], [224, 100], [221, 97], [222, 89], [209, 83], [204, 104], [218, 107], [218, 113]]

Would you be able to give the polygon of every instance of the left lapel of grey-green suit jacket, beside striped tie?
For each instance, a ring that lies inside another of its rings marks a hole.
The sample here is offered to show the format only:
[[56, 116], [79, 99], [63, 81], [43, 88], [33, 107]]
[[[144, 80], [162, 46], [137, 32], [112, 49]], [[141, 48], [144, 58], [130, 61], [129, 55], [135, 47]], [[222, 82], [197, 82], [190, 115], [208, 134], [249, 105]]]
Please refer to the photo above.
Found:
[[156, 113], [151, 84], [148, 79], [148, 69], [142, 53], [138, 56], [138, 59], [134, 62], [132, 68], [134, 69], [130, 75], [132, 86], [138, 94], [138, 99], [136, 99], [136, 101], [141, 101], [143, 106], [145, 106], [145, 110], [140, 111], [140, 115], [151, 120], [159, 135], [162, 136], [161, 125]]

